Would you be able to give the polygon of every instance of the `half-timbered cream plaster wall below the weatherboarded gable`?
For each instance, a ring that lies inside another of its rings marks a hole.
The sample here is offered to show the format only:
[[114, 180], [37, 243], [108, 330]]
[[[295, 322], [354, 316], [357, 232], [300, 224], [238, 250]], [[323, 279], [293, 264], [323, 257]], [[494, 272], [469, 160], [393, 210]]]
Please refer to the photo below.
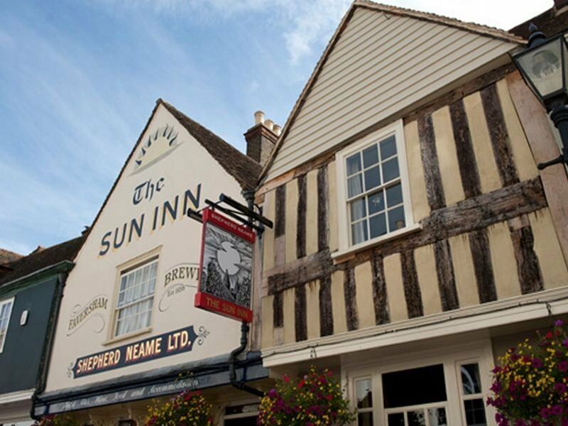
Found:
[[[338, 233], [337, 214], [332, 214], [337, 209], [336, 164], [327, 156], [298, 168], [292, 180], [277, 180], [280, 186], [259, 191], [268, 203], [268, 219], [280, 223], [277, 238], [283, 246], [302, 248], [285, 261], [265, 264], [263, 349], [306, 338], [312, 344], [318, 337], [389, 327], [567, 282], [568, 269], [506, 78], [435, 109], [417, 110], [403, 121], [410, 203], [420, 231], [332, 258], [337, 247], [326, 242]], [[461, 176], [461, 168], [471, 176]], [[273, 207], [274, 200], [296, 206], [297, 192], [290, 188], [303, 188], [306, 173], [315, 172], [322, 178], [314, 189], [307, 185], [307, 200], [317, 199], [317, 228], [329, 232], [327, 241], [297, 231], [305, 226], [305, 214], [279, 221], [282, 212]], [[266, 237], [264, 258], [273, 259], [277, 239]], [[303, 251], [315, 244], [317, 253]], [[319, 291], [312, 296], [314, 285]], [[295, 303], [287, 302], [290, 295]]]

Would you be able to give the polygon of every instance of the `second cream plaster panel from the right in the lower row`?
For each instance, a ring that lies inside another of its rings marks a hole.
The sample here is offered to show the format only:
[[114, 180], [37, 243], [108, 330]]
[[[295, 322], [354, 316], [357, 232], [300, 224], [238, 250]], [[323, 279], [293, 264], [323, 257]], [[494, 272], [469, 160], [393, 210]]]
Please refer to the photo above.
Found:
[[488, 234], [498, 299], [520, 295], [517, 261], [507, 223], [489, 226]]

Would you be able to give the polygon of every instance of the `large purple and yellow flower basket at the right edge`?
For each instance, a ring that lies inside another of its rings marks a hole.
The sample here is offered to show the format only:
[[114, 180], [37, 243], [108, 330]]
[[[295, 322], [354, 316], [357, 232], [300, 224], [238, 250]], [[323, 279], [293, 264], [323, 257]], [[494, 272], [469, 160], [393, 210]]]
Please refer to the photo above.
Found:
[[568, 426], [568, 333], [562, 321], [537, 344], [526, 339], [499, 361], [487, 399], [499, 426]]

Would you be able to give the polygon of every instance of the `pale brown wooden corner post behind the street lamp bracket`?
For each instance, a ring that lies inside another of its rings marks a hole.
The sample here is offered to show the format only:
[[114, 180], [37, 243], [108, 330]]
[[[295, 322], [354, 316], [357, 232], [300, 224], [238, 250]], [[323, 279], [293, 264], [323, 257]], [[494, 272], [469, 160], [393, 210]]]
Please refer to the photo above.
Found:
[[[520, 77], [519, 72], [508, 75], [507, 84], [536, 163], [557, 158], [558, 146], [545, 109]], [[564, 254], [564, 262], [568, 265], [568, 178], [566, 169], [562, 164], [552, 165], [540, 171], [540, 179]]]

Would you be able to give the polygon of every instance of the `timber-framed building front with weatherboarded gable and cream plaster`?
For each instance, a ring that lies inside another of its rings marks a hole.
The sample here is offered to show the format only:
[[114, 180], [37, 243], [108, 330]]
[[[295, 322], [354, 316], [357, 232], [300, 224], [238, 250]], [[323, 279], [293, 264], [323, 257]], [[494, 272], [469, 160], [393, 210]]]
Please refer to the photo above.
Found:
[[524, 43], [354, 1], [256, 191], [272, 376], [332, 368], [359, 425], [494, 424], [497, 356], [568, 315], [566, 175], [536, 167], [558, 154]]

